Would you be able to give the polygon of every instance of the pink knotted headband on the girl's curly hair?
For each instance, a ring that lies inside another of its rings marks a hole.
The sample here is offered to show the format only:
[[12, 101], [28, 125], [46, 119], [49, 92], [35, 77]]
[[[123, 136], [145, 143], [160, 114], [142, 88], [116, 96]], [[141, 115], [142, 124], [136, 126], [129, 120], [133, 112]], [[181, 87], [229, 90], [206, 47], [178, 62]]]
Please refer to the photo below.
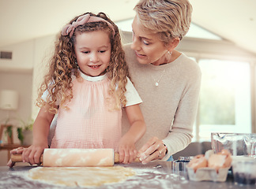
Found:
[[113, 35], [115, 35], [115, 29], [112, 24], [110, 24], [107, 20], [104, 20], [101, 17], [91, 17], [90, 14], [85, 14], [81, 17], [78, 17], [76, 21], [73, 21], [72, 24], [67, 24], [62, 28], [62, 35], [69, 35], [70, 37], [73, 35], [73, 31], [77, 26], [83, 25], [85, 23], [89, 22], [98, 22], [98, 21], [104, 21], [107, 23], [107, 25], [113, 30]]

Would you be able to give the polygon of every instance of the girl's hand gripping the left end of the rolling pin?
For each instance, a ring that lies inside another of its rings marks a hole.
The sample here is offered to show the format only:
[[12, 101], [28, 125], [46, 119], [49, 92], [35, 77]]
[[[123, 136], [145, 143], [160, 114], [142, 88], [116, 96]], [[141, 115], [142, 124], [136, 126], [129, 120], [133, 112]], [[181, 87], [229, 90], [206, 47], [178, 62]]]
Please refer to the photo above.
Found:
[[24, 148], [22, 153], [23, 162], [28, 162], [31, 165], [40, 165], [40, 157], [45, 148], [48, 148], [47, 144], [32, 144], [32, 146]]

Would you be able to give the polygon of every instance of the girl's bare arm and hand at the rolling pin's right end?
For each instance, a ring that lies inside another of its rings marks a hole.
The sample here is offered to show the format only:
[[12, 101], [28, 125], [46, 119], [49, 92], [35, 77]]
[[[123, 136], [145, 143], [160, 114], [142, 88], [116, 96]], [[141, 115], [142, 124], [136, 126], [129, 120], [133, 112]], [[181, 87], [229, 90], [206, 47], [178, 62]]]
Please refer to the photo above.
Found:
[[135, 143], [145, 134], [146, 125], [138, 104], [126, 106], [125, 110], [130, 122], [130, 129], [122, 136], [119, 142], [119, 161], [126, 164], [134, 161], [136, 158], [137, 150]]

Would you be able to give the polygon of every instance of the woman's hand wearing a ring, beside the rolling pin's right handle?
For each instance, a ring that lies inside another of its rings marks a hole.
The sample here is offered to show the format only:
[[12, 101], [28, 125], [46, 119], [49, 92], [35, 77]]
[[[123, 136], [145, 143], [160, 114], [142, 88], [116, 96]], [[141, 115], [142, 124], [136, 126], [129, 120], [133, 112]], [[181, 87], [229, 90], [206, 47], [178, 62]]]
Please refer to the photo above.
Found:
[[157, 137], [153, 137], [141, 147], [138, 151], [137, 158], [140, 159], [142, 164], [146, 164], [153, 160], [163, 159], [166, 152], [167, 148], [164, 146], [163, 141]]

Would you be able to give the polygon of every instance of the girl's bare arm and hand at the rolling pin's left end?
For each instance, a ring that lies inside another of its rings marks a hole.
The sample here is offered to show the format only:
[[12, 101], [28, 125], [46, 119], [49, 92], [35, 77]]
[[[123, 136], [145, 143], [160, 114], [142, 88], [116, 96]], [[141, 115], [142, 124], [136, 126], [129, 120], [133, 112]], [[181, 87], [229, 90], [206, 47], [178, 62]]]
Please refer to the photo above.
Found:
[[40, 109], [33, 124], [32, 146], [25, 148], [22, 153], [24, 162], [28, 162], [31, 165], [40, 164], [40, 156], [43, 154], [43, 150], [48, 148], [47, 136], [54, 116], [55, 114], [49, 113], [45, 107]]

